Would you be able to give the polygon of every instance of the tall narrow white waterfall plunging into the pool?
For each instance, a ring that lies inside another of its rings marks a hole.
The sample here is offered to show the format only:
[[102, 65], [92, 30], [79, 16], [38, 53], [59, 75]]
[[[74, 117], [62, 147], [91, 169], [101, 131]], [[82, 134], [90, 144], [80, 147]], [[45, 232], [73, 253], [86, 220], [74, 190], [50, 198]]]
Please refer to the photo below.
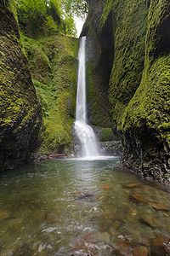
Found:
[[86, 106], [86, 37], [81, 38], [78, 52], [77, 112], [75, 130], [82, 144], [82, 157], [99, 156], [93, 128], [87, 124]]

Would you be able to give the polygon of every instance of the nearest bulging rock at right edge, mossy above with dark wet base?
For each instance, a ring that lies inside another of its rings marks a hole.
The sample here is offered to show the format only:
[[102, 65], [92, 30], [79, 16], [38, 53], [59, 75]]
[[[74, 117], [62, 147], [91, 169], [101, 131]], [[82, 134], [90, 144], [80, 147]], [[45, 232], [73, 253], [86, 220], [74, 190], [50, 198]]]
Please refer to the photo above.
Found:
[[169, 12], [170, 3], [150, 2], [143, 77], [122, 120], [122, 163], [159, 180], [170, 180]]

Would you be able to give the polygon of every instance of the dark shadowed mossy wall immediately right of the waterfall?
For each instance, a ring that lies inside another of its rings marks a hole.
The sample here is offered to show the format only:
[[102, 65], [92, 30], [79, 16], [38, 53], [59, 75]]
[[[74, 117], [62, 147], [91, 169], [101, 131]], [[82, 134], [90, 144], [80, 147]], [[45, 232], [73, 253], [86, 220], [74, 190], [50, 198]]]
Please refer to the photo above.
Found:
[[[88, 103], [88, 120], [92, 125], [100, 127], [111, 127], [108, 109], [108, 86], [105, 73], [108, 73], [108, 55], [103, 54], [103, 45], [99, 42], [97, 32], [94, 30], [92, 20], [88, 17], [83, 29], [82, 35], [87, 36], [87, 103]], [[105, 36], [104, 36], [105, 37]], [[107, 38], [105, 38], [107, 40]], [[107, 42], [110, 42], [108, 39]], [[111, 55], [110, 48], [108, 52]], [[105, 56], [105, 71], [100, 67], [103, 63], [103, 55]]]

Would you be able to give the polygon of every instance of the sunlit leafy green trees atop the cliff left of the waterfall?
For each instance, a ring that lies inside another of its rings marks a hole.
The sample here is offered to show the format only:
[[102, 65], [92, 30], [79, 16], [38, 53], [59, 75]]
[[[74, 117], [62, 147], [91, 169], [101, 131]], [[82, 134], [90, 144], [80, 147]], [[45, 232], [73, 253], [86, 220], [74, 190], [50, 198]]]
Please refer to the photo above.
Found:
[[20, 31], [30, 38], [63, 32], [75, 36], [71, 15], [66, 15], [60, 0], [15, 0]]

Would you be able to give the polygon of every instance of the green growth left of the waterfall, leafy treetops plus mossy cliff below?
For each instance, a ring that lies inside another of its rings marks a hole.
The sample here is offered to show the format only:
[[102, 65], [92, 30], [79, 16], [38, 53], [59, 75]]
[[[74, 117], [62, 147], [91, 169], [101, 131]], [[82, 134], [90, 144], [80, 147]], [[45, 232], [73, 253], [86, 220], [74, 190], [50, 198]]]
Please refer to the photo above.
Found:
[[39, 151], [71, 153], [78, 50], [78, 40], [68, 37], [76, 35], [72, 14], [63, 11], [60, 0], [15, 3], [21, 43], [42, 106]]

